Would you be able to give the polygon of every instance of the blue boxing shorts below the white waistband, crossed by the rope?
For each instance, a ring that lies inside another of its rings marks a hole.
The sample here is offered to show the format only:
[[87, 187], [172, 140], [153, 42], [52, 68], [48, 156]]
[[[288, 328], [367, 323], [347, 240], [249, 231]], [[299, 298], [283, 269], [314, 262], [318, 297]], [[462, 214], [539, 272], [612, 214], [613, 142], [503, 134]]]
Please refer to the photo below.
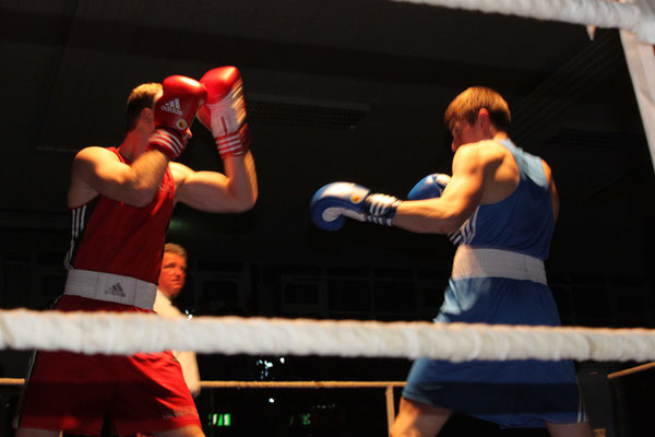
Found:
[[[548, 286], [504, 277], [451, 279], [434, 321], [560, 326]], [[587, 420], [571, 361], [419, 358], [409, 370], [403, 397], [502, 427]]]

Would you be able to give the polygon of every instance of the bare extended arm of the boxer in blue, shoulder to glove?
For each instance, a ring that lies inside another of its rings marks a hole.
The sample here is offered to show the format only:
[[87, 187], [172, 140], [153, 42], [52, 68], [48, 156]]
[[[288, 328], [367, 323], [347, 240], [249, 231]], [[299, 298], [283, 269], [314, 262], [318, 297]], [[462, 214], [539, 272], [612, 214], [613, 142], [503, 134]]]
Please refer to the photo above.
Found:
[[453, 160], [453, 176], [440, 198], [404, 201], [393, 225], [415, 233], [455, 232], [480, 203], [489, 164], [480, 147], [462, 146]]

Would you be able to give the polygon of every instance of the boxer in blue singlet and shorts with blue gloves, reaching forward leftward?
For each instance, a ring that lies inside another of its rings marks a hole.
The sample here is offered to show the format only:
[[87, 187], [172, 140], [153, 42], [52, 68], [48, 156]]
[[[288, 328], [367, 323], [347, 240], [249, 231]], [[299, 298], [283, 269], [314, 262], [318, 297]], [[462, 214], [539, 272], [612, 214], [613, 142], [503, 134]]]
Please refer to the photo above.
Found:
[[[408, 200], [334, 182], [314, 194], [314, 224], [336, 231], [344, 216], [415, 233], [448, 234], [457, 245], [436, 322], [559, 326], [544, 260], [559, 211], [550, 167], [509, 139], [510, 110], [476, 86], [448, 107], [452, 177], [430, 175]], [[417, 359], [392, 436], [434, 436], [453, 412], [503, 427], [544, 427], [591, 437], [570, 361], [450, 363]]]

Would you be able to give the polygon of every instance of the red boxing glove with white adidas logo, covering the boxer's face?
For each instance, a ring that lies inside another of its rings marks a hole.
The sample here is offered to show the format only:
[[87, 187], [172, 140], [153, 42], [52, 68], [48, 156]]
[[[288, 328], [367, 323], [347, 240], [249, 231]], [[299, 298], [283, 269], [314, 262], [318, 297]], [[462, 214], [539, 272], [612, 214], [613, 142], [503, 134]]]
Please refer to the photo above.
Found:
[[207, 91], [198, 81], [183, 75], [170, 75], [162, 83], [163, 94], [155, 102], [156, 130], [147, 149], [157, 149], [171, 161], [187, 146], [191, 123], [198, 108], [205, 103]]

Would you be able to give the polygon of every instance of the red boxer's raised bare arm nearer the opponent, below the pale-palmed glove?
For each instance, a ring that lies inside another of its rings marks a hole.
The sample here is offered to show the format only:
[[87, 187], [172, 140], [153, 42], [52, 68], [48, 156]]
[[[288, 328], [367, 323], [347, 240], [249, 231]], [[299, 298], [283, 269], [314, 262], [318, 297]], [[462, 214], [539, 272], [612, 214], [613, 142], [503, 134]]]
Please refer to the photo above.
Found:
[[258, 197], [254, 160], [250, 152], [224, 160], [225, 175], [194, 172], [170, 163], [176, 181], [175, 199], [205, 212], [245, 212]]

